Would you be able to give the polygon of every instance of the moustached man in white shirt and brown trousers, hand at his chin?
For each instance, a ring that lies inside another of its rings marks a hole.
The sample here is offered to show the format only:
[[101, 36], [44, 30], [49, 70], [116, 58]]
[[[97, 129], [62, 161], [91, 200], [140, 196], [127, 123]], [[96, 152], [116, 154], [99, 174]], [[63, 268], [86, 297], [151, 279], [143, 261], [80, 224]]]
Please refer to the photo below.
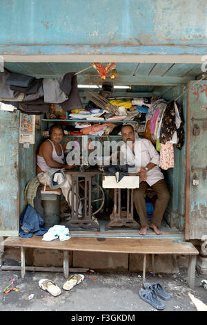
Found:
[[146, 189], [148, 189], [148, 187], [152, 187], [157, 194], [155, 211], [152, 215], [149, 227], [152, 228], [156, 234], [162, 234], [159, 227], [168, 205], [170, 194], [164, 180], [164, 175], [158, 167], [159, 154], [150, 140], [138, 138], [130, 124], [124, 125], [121, 128], [121, 135], [126, 142], [121, 146], [122, 161], [124, 164], [130, 166], [135, 165], [135, 169], [139, 171], [139, 188], [134, 189], [134, 203], [141, 223], [139, 234], [145, 235], [148, 230], [148, 217], [145, 202]]

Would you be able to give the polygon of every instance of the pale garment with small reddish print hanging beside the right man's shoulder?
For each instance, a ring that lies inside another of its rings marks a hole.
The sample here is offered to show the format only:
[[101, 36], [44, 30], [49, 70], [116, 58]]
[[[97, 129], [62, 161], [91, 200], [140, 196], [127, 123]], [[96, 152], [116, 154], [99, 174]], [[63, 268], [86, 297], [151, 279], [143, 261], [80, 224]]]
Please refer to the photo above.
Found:
[[164, 170], [174, 167], [174, 147], [170, 142], [161, 143], [159, 167]]

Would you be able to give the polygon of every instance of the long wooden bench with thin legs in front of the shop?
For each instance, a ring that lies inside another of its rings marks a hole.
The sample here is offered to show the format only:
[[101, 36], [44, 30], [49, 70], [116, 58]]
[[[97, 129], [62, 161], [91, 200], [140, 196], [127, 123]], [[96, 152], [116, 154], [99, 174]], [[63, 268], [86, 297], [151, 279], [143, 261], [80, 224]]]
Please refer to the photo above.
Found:
[[[30, 239], [24, 239], [19, 236], [10, 236], [3, 241], [4, 246], [21, 248], [21, 277], [26, 275], [25, 248], [43, 248], [48, 250], [63, 251], [63, 275], [68, 278], [69, 275], [69, 254], [68, 251], [85, 252], [110, 252], [143, 254], [143, 283], [146, 278], [146, 255], [152, 254], [181, 254], [188, 255], [188, 286], [194, 288], [195, 284], [195, 263], [198, 250], [192, 243], [176, 242], [170, 239], [137, 239], [137, 238], [103, 238], [103, 237], [79, 237], [72, 236], [68, 241], [42, 241], [42, 236], [32, 236]], [[3, 270], [3, 268], [1, 268]], [[14, 268], [13, 268], [14, 270]], [[31, 270], [34, 270], [31, 269]], [[39, 267], [36, 270], [41, 270]]]

